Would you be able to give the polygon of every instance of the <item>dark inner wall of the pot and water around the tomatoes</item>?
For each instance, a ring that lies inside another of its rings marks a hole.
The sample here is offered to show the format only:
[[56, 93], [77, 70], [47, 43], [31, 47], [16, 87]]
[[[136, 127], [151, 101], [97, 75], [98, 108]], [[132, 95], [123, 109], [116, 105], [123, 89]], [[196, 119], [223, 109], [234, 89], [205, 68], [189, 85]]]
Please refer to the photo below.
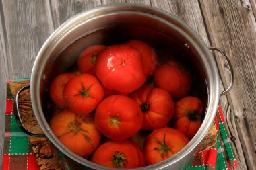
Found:
[[[54, 60], [49, 58], [48, 62], [51, 63], [47, 63], [47, 67], [45, 68], [46, 79], [41, 85], [44, 88], [40, 90], [42, 92], [46, 91], [46, 93], [41, 93], [41, 95], [44, 116], [46, 116], [48, 121], [51, 119], [55, 110], [48, 93], [49, 85], [53, 78], [59, 73], [67, 71], [79, 73], [77, 69], [77, 58], [86, 47], [94, 44], [104, 44], [106, 46], [123, 44], [127, 40], [141, 40], [148, 43], [154, 48], [159, 63], [165, 60], [175, 59], [185, 65], [189, 73], [191, 73], [193, 81], [188, 95], [199, 97], [203, 101], [205, 108], [207, 107], [208, 89], [205, 72], [203, 71], [203, 67], [200, 66], [199, 57], [195, 56], [191, 52], [191, 49], [185, 45], [186, 42], [182, 39], [181, 35], [175, 34], [172, 28], [168, 28], [163, 23], [158, 23], [157, 19], [154, 21], [151, 17], [149, 18], [141, 14], [122, 13], [108, 15], [106, 17], [108, 18], [106, 24], [101, 23], [106, 18], [100, 17], [97, 18], [100, 21], [97, 20], [95, 22], [96, 26], [89, 23], [84, 25], [84, 29], [79, 28], [79, 33], [81, 30], [84, 30], [82, 34], [70, 32], [70, 34], [77, 34], [77, 36], [73, 36], [73, 42], [71, 38], [70, 40], [66, 38], [67, 40], [65, 41], [69, 41], [69, 44], [64, 44], [63, 42], [61, 42], [62, 44], [58, 44], [63, 46], [61, 52], [56, 56], [51, 56]], [[99, 22], [100, 24], [97, 26]]]

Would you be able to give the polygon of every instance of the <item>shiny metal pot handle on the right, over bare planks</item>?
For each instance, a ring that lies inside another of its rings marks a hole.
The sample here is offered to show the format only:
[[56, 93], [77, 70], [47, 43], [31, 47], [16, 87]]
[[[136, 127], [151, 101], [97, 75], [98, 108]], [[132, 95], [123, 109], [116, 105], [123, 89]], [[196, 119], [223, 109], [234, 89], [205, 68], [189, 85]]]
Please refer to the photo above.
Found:
[[230, 89], [234, 85], [234, 71], [233, 71], [231, 62], [228, 59], [228, 56], [226, 56], [225, 52], [220, 50], [220, 48], [210, 46], [209, 49], [220, 52], [220, 54], [222, 54], [223, 58], [225, 59], [226, 64], [228, 65], [228, 70], [229, 70], [229, 73], [230, 73], [230, 83], [229, 83], [228, 87], [226, 89], [224, 89], [224, 91], [220, 92], [220, 95], [225, 95], [228, 91], [230, 91]]

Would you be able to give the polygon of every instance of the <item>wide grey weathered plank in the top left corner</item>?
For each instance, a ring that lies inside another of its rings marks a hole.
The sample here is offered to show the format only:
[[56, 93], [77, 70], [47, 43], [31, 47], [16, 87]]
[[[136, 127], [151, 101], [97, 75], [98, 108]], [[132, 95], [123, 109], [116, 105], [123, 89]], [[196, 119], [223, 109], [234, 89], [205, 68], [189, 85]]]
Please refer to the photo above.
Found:
[[2, 1], [11, 78], [30, 77], [38, 50], [53, 32], [48, 1]]

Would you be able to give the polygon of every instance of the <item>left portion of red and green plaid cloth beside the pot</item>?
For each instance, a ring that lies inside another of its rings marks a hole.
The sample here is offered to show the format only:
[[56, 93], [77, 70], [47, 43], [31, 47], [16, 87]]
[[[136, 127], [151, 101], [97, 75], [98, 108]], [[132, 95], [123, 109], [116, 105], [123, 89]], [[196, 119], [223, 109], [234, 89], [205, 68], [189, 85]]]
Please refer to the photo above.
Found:
[[24, 134], [15, 121], [13, 114], [13, 95], [8, 83], [4, 136], [2, 170], [39, 169], [32, 148], [29, 145], [28, 136]]

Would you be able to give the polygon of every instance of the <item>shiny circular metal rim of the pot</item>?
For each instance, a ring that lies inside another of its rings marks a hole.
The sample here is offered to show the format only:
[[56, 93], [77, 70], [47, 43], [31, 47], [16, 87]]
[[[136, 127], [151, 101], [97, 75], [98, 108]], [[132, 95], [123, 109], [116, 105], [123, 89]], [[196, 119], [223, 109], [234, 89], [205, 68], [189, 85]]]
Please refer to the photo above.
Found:
[[196, 48], [200, 56], [207, 56], [207, 59], [202, 58], [205, 64], [205, 69], [209, 74], [207, 75], [207, 77], [212, 77], [212, 79], [207, 79], [207, 84], [210, 85], [208, 86], [208, 106], [204, 118], [207, 121], [203, 121], [201, 128], [198, 130], [197, 134], [195, 134], [189, 144], [187, 144], [181, 151], [179, 151], [179, 153], [160, 163], [136, 168], [137, 170], [148, 168], [162, 169], [170, 164], [181, 160], [188, 154], [188, 151], [193, 151], [201, 142], [201, 140], [203, 140], [203, 137], [210, 129], [210, 126], [214, 121], [214, 117], [218, 109], [218, 100], [220, 97], [220, 81], [218, 69], [209, 48], [207, 47], [205, 42], [203, 42], [201, 37], [192, 28], [185, 24], [185, 22], [181, 21], [178, 17], [167, 13], [166, 11], [162, 11], [162, 9], [135, 3], [118, 3], [94, 7], [93, 9], [84, 11], [68, 19], [65, 23], [59, 26], [59, 28], [57, 28], [57, 30], [55, 30], [55, 32], [53, 32], [51, 36], [49, 36], [49, 38], [46, 40], [46, 42], [43, 44], [42, 48], [38, 52], [38, 55], [36, 56], [34, 66], [32, 68], [30, 86], [30, 92], [32, 94], [32, 108], [34, 110], [36, 120], [38, 121], [38, 124], [42, 128], [44, 134], [59, 149], [59, 151], [84, 166], [99, 169], [113, 169], [102, 167], [101, 165], [97, 165], [87, 160], [85, 161], [84, 158], [71, 153], [68, 148], [66, 148], [63, 144], [61, 144], [61, 142], [59, 142], [55, 134], [53, 134], [53, 132], [51, 131], [48, 122], [44, 118], [42, 105], [40, 104], [40, 87], [38, 87], [38, 85], [40, 85], [40, 82], [44, 79], [44, 68], [42, 66], [45, 66], [44, 64], [46, 63], [47, 56], [51, 54], [51, 50], [55, 48], [57, 42], [59, 42], [62, 38], [65, 38], [66, 34], [68, 34], [71, 30], [75, 30], [74, 26], [77, 26], [77, 24], [83, 24], [83, 22], [86, 22], [87, 19], [91, 19], [93, 17], [96, 17], [97, 15], [104, 15], [104, 13], [115, 13], [116, 11], [138, 11], [145, 13], [146, 15], [152, 15], [152, 17], [159, 17], [159, 19], [162, 19], [163, 22], [168, 22], [171, 26], [177, 27], [177, 30], [181, 32], [181, 34], [186, 36], [187, 40], [189, 40], [189, 42], [193, 44], [193, 47]]

